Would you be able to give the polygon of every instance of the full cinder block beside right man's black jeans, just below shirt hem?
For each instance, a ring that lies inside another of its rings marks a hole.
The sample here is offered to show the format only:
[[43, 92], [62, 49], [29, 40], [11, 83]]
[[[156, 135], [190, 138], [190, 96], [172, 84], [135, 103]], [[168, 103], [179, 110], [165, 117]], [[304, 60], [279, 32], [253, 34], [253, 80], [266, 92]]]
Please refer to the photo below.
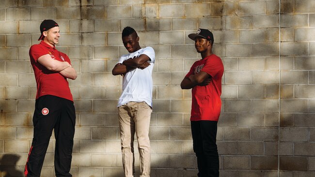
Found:
[[250, 140], [251, 129], [250, 128], [223, 128], [223, 139], [227, 141]]

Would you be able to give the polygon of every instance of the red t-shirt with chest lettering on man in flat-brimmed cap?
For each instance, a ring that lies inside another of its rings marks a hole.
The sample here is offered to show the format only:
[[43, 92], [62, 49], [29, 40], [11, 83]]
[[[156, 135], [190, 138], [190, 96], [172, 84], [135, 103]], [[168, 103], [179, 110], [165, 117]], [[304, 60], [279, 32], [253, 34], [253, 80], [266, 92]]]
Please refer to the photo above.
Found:
[[210, 84], [192, 88], [192, 104], [190, 121], [218, 121], [221, 112], [221, 78], [224, 67], [220, 57], [212, 54], [205, 59], [196, 61], [186, 77], [201, 71], [212, 76]]

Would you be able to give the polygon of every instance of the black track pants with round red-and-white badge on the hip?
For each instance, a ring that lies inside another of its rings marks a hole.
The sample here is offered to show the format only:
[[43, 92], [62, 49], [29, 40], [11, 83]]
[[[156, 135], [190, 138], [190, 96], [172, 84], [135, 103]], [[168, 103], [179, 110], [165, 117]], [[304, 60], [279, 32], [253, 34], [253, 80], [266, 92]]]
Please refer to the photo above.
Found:
[[72, 177], [69, 171], [76, 124], [73, 102], [52, 95], [41, 96], [35, 102], [33, 124], [34, 137], [25, 166], [25, 176], [40, 177], [49, 139], [54, 130], [56, 177]]

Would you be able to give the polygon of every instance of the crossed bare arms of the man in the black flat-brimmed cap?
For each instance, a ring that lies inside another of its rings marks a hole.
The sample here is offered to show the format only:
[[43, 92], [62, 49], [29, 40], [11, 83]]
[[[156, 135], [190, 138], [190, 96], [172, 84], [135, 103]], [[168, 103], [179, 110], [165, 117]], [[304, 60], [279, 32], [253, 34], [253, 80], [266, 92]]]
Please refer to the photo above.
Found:
[[184, 77], [183, 81], [180, 83], [180, 87], [182, 89], [190, 89], [195, 86], [206, 86], [211, 80], [211, 75], [202, 71], [198, 74], [191, 74], [189, 77]]

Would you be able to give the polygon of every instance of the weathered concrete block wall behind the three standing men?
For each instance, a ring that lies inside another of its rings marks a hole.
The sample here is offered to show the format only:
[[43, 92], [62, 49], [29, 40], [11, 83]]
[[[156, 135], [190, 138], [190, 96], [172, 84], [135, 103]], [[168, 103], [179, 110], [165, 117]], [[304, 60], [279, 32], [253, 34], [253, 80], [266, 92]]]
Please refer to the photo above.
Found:
[[[315, 176], [314, 6], [314, 0], [1, 0], [1, 175], [22, 176], [36, 93], [28, 51], [41, 21], [55, 19], [58, 49], [78, 72], [69, 81], [77, 111], [74, 177], [123, 176], [116, 109], [122, 77], [111, 70], [126, 54], [125, 26], [156, 51], [151, 177], [196, 176], [191, 93], [179, 84], [200, 59], [187, 37], [198, 28], [214, 33], [214, 53], [225, 67], [221, 177]], [[53, 156], [52, 135], [43, 177], [54, 176]], [[139, 175], [139, 155], [136, 167]]]

